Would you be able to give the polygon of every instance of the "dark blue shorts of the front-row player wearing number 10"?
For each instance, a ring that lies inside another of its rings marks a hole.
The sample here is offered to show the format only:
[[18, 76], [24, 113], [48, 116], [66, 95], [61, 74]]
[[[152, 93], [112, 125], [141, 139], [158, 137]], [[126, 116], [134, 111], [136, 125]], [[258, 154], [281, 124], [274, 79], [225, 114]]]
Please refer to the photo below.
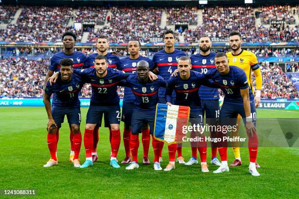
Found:
[[[250, 104], [250, 112], [252, 115], [253, 123], [256, 126], [256, 106]], [[223, 102], [219, 115], [220, 125], [235, 125], [238, 114], [241, 115], [244, 124], [246, 124], [246, 115], [243, 104], [231, 104]]]

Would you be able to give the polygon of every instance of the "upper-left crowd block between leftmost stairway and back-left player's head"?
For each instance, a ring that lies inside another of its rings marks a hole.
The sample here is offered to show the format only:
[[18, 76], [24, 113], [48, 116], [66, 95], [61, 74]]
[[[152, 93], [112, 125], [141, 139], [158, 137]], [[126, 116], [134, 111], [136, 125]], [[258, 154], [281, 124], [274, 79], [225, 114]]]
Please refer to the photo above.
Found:
[[[17, 24], [0, 30], [0, 41], [61, 41], [65, 31], [72, 31], [68, 26], [71, 16], [71, 7], [24, 6]], [[76, 35], [80, 41], [82, 31]]]

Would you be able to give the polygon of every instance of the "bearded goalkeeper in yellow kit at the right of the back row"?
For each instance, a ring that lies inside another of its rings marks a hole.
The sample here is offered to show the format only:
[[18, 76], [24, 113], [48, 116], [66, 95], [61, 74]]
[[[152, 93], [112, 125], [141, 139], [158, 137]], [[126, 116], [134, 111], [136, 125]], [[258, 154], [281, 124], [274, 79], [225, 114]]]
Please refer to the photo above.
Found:
[[[253, 94], [256, 94], [255, 95], [255, 103], [256, 103], [256, 108], [257, 108], [260, 104], [262, 76], [261, 76], [261, 71], [260, 71], [260, 68], [259, 68], [259, 65], [257, 62], [256, 55], [250, 51], [243, 50], [241, 48], [242, 37], [241, 37], [241, 34], [237, 31], [233, 31], [230, 33], [229, 43], [230, 43], [230, 48], [232, 49], [231, 52], [226, 53], [229, 63], [231, 65], [237, 66], [245, 71], [249, 86], [250, 86]], [[256, 77], [256, 93], [252, 87], [252, 78], [251, 78], [252, 71], [254, 72], [255, 77]], [[238, 119], [237, 119], [237, 130], [234, 132], [234, 134], [236, 136], [238, 135], [240, 118], [241, 118], [241, 116], [239, 115]], [[233, 150], [234, 150], [235, 160], [230, 166], [242, 165], [239, 142], [233, 143]], [[256, 163], [256, 167], [259, 168], [260, 166]]]

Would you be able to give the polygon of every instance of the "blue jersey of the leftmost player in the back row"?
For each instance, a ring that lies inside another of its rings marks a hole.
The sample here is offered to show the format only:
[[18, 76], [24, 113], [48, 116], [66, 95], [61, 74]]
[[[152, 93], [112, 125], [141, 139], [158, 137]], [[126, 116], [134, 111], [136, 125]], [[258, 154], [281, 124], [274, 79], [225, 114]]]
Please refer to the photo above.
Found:
[[74, 69], [84, 69], [93, 66], [92, 60], [87, 58], [82, 52], [74, 52], [72, 55], [66, 55], [64, 52], [59, 52], [53, 55], [50, 59], [49, 70], [59, 71], [60, 70], [60, 60], [67, 58], [74, 62]]

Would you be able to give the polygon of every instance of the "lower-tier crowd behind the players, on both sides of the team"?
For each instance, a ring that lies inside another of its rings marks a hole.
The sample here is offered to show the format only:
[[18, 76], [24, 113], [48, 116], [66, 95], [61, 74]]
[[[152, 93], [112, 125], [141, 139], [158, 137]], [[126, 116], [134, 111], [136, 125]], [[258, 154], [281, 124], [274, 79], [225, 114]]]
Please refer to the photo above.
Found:
[[[48, 70], [49, 59], [29, 59], [28, 57], [0, 60], [0, 97], [42, 97], [43, 81]], [[291, 69], [299, 66], [290, 64]], [[298, 98], [299, 92], [292, 81], [278, 65], [260, 65], [263, 75], [261, 97], [264, 99]], [[295, 71], [294, 71], [295, 72]], [[119, 87], [120, 97], [124, 89]], [[82, 97], [91, 96], [91, 87], [85, 84]]]

